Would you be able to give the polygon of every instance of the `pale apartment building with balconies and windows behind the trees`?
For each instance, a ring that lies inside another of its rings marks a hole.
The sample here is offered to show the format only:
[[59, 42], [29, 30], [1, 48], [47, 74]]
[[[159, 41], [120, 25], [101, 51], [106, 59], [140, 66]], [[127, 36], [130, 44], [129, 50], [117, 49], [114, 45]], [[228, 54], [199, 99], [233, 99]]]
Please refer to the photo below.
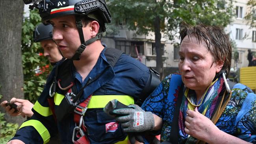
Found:
[[[238, 59], [234, 61], [232, 57], [231, 67], [235, 70], [248, 66], [247, 60], [248, 50], [256, 53], [256, 28], [250, 28], [245, 20], [246, 13], [249, 13], [251, 9], [247, 6], [248, 0], [236, 0], [234, 2], [234, 14], [233, 22], [225, 28], [226, 33], [230, 34], [230, 38], [236, 44]], [[102, 39], [109, 47], [122, 50], [126, 54], [130, 54], [132, 57], [139, 59], [147, 66], [156, 66], [156, 51], [154, 47], [154, 33], [151, 32], [148, 35], [136, 35], [134, 31], [129, 31], [125, 28], [125, 25], [119, 28], [117, 35], [107, 35]], [[178, 36], [178, 34], [176, 34]], [[168, 37], [162, 37], [162, 46], [164, 48], [163, 53], [163, 67], [165, 75], [172, 72], [178, 72], [179, 61], [179, 41], [176, 38], [175, 42], [168, 40]], [[137, 50], [137, 51], [136, 51]], [[234, 50], [233, 50], [234, 51]]]

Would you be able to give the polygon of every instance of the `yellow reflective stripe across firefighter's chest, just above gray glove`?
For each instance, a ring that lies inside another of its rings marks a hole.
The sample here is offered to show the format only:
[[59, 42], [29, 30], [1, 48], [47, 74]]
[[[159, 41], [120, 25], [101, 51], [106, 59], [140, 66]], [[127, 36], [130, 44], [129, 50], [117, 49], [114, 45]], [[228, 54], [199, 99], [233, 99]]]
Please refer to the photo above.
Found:
[[92, 96], [89, 104], [87, 105], [88, 109], [103, 108], [111, 100], [117, 99], [119, 102], [130, 105], [134, 104], [134, 98], [132, 96], [126, 95], [101, 95], [101, 96]]

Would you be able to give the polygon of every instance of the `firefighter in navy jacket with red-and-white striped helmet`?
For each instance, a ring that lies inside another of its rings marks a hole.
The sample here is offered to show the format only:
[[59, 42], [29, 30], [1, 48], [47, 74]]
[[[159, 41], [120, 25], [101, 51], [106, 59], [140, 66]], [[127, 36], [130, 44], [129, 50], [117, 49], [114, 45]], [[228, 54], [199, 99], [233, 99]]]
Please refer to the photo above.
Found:
[[127, 134], [103, 107], [113, 99], [143, 102], [160, 83], [156, 72], [101, 44], [111, 22], [104, 0], [37, 0], [30, 7], [53, 26], [53, 40], [67, 59], [54, 67], [33, 116], [8, 144], [43, 144], [58, 132], [63, 144], [127, 144]]

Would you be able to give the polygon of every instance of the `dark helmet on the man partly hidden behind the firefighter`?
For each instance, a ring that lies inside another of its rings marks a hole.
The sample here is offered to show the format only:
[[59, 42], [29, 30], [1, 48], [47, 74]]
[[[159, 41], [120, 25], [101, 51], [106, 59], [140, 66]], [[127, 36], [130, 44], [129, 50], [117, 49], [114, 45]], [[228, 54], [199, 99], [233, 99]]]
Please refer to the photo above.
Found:
[[52, 39], [52, 25], [45, 26], [42, 23], [37, 25], [33, 31], [34, 42], [41, 42], [48, 39]]

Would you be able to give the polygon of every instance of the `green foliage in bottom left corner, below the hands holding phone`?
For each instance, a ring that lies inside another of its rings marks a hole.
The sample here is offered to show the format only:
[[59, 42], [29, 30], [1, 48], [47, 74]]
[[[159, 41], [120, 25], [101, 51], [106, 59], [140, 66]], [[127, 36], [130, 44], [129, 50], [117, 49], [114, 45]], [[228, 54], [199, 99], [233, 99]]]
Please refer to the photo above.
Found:
[[[0, 94], [0, 99], [2, 95]], [[0, 112], [0, 144], [6, 144], [16, 133], [18, 124], [6, 122], [4, 113]]]

